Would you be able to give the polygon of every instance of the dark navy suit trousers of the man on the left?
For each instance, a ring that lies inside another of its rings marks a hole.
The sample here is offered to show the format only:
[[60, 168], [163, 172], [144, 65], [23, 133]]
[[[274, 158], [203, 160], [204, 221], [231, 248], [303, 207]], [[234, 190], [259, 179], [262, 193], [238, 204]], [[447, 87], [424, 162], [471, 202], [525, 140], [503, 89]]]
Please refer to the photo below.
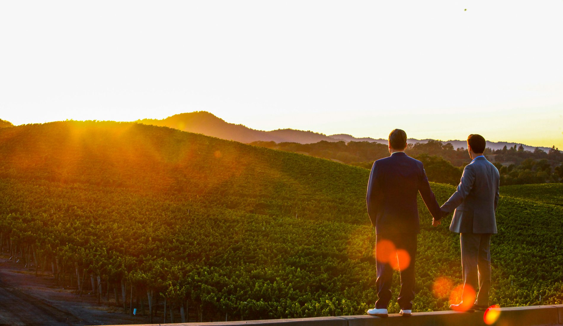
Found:
[[[376, 236], [376, 245], [381, 240], [390, 240], [395, 244], [397, 249], [404, 249], [410, 256], [410, 264], [404, 270], [399, 271], [401, 276], [401, 291], [399, 293], [399, 307], [403, 310], [413, 309], [414, 299], [414, 263], [417, 255], [417, 234], [378, 234]], [[376, 257], [377, 258], [377, 257]], [[377, 309], [387, 309], [391, 300], [391, 280], [393, 276], [393, 267], [388, 262], [380, 262], [377, 260]], [[401, 267], [401, 266], [399, 266]], [[403, 267], [401, 267], [403, 269]]]

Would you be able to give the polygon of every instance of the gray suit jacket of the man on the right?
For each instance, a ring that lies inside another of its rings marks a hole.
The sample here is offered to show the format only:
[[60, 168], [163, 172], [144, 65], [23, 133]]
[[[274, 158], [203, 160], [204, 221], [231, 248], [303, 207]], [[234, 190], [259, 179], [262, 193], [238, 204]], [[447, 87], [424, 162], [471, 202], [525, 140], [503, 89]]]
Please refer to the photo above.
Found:
[[441, 209], [455, 209], [450, 231], [457, 233], [497, 233], [495, 211], [498, 204], [498, 169], [484, 157], [475, 158], [463, 169], [457, 191]]

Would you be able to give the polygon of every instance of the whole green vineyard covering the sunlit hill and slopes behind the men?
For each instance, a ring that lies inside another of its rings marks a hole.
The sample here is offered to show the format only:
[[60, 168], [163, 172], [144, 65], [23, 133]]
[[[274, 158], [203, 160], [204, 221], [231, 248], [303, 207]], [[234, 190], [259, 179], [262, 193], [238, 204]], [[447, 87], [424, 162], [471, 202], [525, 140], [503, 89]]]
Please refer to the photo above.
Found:
[[[176, 321], [364, 314], [377, 299], [367, 169], [115, 122], [3, 128], [0, 158], [2, 253], [77, 295]], [[491, 302], [563, 303], [563, 207], [517, 187], [501, 190]], [[455, 187], [432, 189], [443, 203]], [[433, 288], [461, 282], [459, 238], [419, 212], [413, 309], [445, 310], [451, 289]]]

